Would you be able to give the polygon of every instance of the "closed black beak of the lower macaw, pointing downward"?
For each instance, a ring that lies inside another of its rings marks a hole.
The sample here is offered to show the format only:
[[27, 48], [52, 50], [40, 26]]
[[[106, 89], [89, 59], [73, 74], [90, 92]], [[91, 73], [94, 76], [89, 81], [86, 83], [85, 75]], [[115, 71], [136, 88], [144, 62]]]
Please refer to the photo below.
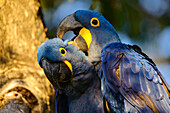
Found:
[[42, 68], [48, 80], [58, 89], [64, 89], [64, 83], [72, 79], [72, 70], [65, 62], [50, 62], [43, 59]]

